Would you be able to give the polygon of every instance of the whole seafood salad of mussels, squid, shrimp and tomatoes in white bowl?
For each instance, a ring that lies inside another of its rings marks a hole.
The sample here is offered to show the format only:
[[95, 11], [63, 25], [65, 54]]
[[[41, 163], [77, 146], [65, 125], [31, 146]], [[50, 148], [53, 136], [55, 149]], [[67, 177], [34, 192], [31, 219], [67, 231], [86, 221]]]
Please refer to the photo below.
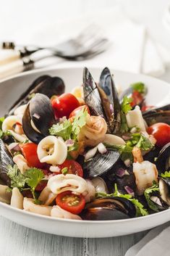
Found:
[[0, 201], [75, 220], [118, 220], [170, 206], [170, 104], [147, 86], [117, 92], [109, 68], [82, 86], [37, 78], [0, 119]]

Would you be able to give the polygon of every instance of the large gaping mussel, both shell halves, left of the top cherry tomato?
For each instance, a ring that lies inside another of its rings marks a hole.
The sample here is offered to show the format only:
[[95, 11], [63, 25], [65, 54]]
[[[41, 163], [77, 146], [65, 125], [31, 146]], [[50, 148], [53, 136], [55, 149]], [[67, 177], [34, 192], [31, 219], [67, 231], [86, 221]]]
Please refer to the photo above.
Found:
[[[49, 128], [55, 123], [54, 111], [48, 96], [35, 94], [22, 117], [22, 128], [30, 141], [38, 144], [49, 134]], [[33, 127], [33, 125], [35, 127]]]

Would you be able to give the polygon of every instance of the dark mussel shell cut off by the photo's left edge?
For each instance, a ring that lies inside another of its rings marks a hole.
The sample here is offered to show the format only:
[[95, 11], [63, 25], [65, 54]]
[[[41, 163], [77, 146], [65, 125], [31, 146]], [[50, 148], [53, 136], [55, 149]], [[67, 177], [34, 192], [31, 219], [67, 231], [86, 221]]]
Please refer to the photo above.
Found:
[[8, 165], [14, 165], [12, 160], [12, 155], [10, 154], [7, 146], [5, 146], [4, 141], [0, 139], [0, 178], [4, 183], [10, 186], [10, 178], [7, 176]]

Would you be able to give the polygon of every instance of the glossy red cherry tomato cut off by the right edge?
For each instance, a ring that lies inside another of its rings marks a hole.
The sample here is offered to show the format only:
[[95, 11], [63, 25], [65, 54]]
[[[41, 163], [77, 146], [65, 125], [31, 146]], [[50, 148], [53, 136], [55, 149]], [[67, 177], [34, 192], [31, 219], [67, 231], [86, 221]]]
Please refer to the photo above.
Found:
[[147, 131], [156, 138], [157, 146], [164, 146], [170, 142], [170, 125], [166, 123], [155, 123], [148, 127]]

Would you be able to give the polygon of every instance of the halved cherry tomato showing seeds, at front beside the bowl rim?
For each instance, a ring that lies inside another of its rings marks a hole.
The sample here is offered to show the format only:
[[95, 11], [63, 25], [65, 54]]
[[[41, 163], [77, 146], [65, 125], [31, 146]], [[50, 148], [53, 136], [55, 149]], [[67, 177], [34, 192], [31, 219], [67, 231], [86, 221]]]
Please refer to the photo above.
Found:
[[68, 212], [79, 214], [85, 207], [85, 198], [82, 195], [73, 194], [72, 191], [64, 191], [56, 196], [56, 205]]

